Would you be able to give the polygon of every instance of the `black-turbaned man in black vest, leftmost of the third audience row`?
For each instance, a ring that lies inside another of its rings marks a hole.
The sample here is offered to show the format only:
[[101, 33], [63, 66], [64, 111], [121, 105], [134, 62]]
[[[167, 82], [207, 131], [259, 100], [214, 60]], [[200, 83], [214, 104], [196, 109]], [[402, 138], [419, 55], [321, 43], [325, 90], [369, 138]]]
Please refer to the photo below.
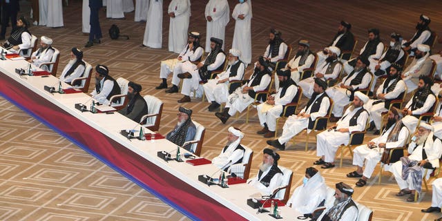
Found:
[[[329, 46], [336, 46], [339, 48], [341, 52], [344, 50], [353, 50], [354, 47], [354, 35], [350, 31], [352, 29], [352, 24], [348, 23], [347, 21], [340, 21], [338, 26], [338, 33], [334, 36], [332, 43], [330, 43]], [[322, 50], [318, 53], [318, 61], [316, 62], [316, 68], [320, 64], [323, 64], [324, 60], [327, 58], [327, 50]], [[350, 57], [343, 57], [342, 59], [348, 60]]]

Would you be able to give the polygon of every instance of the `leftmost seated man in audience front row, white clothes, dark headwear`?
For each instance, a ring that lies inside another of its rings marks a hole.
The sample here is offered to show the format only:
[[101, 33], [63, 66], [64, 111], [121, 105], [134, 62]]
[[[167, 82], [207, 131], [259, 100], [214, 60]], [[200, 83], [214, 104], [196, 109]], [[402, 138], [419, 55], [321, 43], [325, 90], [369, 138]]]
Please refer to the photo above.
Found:
[[189, 32], [188, 42], [177, 58], [161, 61], [160, 78], [162, 83], [156, 89], [167, 88], [167, 77], [173, 71], [172, 87], [166, 90], [166, 93], [177, 93], [178, 84], [180, 84], [178, 74], [183, 73], [182, 64], [186, 61], [200, 61], [204, 52], [204, 49], [200, 46], [200, 33]]

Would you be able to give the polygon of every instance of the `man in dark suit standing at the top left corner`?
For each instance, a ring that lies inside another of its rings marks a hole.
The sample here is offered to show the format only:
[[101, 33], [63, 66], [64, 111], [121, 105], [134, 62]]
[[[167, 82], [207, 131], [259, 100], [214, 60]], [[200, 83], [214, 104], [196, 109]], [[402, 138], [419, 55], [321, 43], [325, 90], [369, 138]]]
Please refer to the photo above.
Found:
[[0, 40], [5, 39], [6, 27], [11, 20], [12, 30], [17, 27], [17, 13], [20, 10], [19, 0], [1, 0]]

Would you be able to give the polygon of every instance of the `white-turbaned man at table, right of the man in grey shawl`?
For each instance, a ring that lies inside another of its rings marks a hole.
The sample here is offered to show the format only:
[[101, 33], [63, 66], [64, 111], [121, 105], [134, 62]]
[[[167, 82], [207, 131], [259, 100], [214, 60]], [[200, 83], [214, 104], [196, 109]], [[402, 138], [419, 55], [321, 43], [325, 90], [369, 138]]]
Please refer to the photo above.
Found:
[[212, 164], [227, 171], [231, 165], [241, 163], [245, 151], [244, 147], [241, 146], [243, 137], [244, 133], [242, 133], [240, 129], [234, 128], [233, 126], [229, 127], [227, 144], [222, 148], [220, 155], [213, 158]]

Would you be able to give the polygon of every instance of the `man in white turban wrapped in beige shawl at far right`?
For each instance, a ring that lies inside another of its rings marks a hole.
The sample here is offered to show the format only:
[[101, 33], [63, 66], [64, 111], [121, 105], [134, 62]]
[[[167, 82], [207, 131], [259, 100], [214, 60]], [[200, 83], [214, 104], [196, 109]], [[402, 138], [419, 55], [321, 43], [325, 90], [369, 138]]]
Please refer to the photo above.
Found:
[[405, 84], [407, 84], [407, 93], [411, 93], [417, 88], [419, 76], [431, 74], [432, 60], [430, 59], [430, 46], [419, 44], [415, 54], [412, 64], [407, 66], [402, 74], [402, 79], [405, 81]]

